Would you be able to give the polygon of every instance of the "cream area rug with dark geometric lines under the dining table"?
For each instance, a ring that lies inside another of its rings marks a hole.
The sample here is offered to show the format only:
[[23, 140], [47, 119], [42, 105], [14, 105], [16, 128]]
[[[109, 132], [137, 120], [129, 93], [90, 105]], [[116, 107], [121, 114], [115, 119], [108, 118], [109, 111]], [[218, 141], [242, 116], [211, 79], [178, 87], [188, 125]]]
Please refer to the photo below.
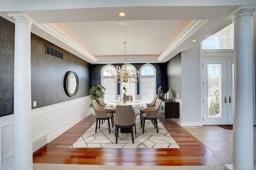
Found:
[[140, 127], [140, 116], [136, 119], [136, 137], [133, 127], [134, 144], [130, 133], [121, 133], [119, 129], [116, 144], [115, 126], [112, 128], [110, 120], [110, 130], [108, 121], [100, 122], [100, 128], [95, 133], [96, 122], [71, 146], [71, 148], [180, 148], [169, 132], [158, 120], [158, 133], [150, 120], [146, 120], [144, 134]]

